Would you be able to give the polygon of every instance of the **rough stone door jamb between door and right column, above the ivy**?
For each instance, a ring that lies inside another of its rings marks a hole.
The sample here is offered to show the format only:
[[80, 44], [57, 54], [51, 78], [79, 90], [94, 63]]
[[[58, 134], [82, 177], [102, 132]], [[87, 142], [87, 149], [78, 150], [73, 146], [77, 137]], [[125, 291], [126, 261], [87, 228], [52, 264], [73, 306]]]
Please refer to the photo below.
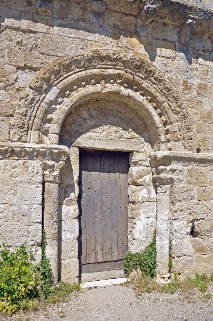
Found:
[[147, 145], [144, 144], [140, 152], [130, 153], [128, 245], [132, 252], [143, 251], [156, 228], [156, 187], [153, 186], [147, 157], [150, 147]]

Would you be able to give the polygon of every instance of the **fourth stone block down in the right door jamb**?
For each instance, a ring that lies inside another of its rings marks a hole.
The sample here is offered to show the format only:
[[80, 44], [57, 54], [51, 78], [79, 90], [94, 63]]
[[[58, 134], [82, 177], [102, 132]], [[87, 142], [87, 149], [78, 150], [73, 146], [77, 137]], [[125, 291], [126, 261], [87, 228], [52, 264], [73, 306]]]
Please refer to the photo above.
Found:
[[130, 219], [156, 218], [156, 202], [129, 204], [128, 216]]

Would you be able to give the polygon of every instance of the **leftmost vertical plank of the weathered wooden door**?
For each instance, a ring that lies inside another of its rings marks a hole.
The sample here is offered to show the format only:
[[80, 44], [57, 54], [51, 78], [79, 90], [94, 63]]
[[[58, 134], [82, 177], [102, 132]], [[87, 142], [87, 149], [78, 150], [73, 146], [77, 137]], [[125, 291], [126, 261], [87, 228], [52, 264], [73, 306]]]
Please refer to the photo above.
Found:
[[87, 257], [87, 243], [86, 243], [86, 153], [79, 151], [80, 158], [80, 179], [79, 179], [79, 193], [80, 193], [80, 239], [81, 239], [81, 264], [86, 264]]

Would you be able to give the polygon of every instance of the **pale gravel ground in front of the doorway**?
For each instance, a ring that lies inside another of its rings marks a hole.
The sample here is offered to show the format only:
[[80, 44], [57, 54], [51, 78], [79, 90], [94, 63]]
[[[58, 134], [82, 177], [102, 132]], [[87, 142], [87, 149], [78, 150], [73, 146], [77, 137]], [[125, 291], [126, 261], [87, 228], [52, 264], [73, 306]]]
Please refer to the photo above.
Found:
[[140, 293], [131, 286], [106, 286], [83, 289], [71, 301], [57, 307], [45, 306], [36, 312], [0, 320], [18, 321], [210, 321], [213, 320], [213, 299], [205, 300], [200, 293], [186, 297], [181, 293]]

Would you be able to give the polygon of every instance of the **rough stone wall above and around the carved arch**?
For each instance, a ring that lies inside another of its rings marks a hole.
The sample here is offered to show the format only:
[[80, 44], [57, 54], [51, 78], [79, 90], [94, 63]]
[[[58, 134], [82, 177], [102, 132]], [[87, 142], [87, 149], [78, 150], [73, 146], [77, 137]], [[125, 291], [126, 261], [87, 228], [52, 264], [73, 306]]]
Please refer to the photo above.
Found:
[[150, 15], [139, 1], [105, 1], [102, 9], [89, 0], [39, 1], [1, 2], [1, 141], [10, 140], [11, 117], [21, 94], [45, 65], [75, 51], [123, 48], [151, 62], [177, 86], [192, 117], [198, 148], [212, 151], [209, 15], [188, 10], [195, 26], [184, 43], [179, 33], [187, 19], [186, 4], [175, 2], [173, 16], [174, 7], [167, 3], [156, 4], [158, 11], [153, 8]]

